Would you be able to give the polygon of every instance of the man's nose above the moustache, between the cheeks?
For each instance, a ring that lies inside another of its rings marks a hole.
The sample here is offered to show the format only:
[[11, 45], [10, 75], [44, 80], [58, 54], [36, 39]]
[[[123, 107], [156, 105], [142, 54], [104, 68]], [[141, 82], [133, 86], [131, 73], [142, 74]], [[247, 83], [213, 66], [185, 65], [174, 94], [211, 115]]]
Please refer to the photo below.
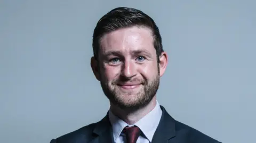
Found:
[[125, 61], [122, 66], [122, 76], [127, 79], [134, 77], [137, 74], [135, 66], [135, 63], [132, 61]]

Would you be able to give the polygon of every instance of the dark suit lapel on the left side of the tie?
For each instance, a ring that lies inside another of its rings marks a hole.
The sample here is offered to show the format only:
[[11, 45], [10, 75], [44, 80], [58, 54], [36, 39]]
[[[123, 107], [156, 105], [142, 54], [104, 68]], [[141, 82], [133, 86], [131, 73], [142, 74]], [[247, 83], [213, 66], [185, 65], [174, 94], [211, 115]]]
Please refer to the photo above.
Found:
[[90, 143], [113, 142], [113, 130], [108, 119], [108, 114], [96, 124], [93, 133], [95, 137]]

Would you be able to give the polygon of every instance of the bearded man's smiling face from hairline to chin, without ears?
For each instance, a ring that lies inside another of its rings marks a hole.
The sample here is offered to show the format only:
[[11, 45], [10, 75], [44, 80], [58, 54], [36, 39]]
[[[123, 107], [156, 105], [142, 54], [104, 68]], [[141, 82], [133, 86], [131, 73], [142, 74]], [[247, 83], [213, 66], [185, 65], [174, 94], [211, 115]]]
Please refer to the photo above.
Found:
[[156, 95], [161, 75], [153, 42], [149, 28], [135, 26], [101, 38], [96, 77], [112, 104], [140, 108]]

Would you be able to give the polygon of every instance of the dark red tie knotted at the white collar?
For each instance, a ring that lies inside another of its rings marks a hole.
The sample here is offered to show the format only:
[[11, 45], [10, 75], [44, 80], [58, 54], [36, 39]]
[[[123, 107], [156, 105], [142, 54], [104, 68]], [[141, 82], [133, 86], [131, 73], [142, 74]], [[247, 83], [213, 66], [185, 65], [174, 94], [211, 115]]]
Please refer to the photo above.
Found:
[[123, 132], [125, 133], [127, 143], [136, 143], [141, 131], [140, 128], [133, 126], [125, 127]]

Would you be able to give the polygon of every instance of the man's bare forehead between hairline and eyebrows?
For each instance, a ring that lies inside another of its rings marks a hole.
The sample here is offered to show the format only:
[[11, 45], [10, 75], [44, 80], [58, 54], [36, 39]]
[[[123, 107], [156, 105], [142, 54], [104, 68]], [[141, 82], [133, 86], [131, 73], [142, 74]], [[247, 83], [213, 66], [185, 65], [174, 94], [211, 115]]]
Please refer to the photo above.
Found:
[[128, 27], [111, 31], [102, 36], [100, 40], [100, 53], [108, 51], [130, 52], [147, 50], [155, 52], [154, 38], [151, 29], [147, 27]]

